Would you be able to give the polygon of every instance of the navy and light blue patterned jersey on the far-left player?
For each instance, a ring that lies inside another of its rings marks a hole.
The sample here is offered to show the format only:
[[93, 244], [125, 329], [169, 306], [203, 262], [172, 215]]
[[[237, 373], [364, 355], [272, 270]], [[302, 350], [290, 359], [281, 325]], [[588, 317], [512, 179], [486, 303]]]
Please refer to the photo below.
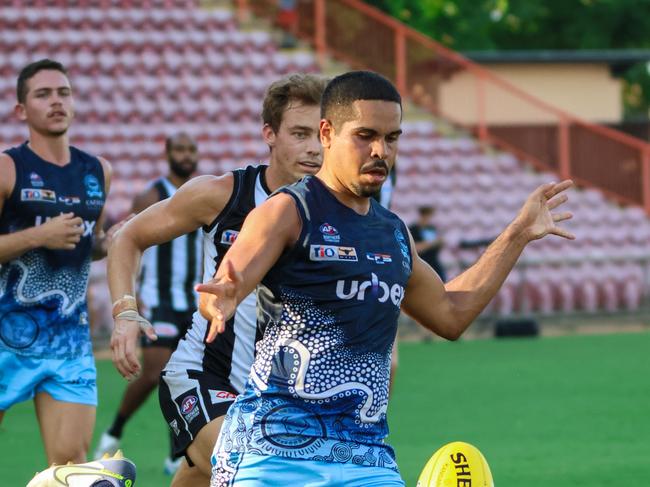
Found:
[[0, 214], [0, 234], [17, 232], [72, 212], [83, 220], [73, 250], [40, 247], [0, 268], [0, 349], [47, 358], [92, 352], [86, 287], [93, 233], [106, 194], [99, 159], [70, 147], [70, 162], [41, 159], [27, 143], [6, 151], [16, 184]]

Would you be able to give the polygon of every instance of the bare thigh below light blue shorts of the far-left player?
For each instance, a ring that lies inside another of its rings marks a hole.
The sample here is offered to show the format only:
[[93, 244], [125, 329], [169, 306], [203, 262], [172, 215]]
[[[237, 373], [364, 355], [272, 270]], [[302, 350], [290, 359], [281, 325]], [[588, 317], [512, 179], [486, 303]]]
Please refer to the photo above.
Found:
[[95, 427], [95, 406], [64, 402], [47, 392], [34, 398], [48, 463], [85, 462]]

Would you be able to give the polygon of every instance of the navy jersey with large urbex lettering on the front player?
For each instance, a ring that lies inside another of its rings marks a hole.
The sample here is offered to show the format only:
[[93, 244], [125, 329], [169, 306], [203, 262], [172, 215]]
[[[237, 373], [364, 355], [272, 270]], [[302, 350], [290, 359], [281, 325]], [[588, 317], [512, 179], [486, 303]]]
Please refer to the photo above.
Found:
[[397, 469], [384, 440], [391, 349], [412, 270], [406, 227], [373, 200], [357, 214], [316, 177], [280, 191], [294, 198], [302, 231], [258, 287], [264, 336], [219, 454]]

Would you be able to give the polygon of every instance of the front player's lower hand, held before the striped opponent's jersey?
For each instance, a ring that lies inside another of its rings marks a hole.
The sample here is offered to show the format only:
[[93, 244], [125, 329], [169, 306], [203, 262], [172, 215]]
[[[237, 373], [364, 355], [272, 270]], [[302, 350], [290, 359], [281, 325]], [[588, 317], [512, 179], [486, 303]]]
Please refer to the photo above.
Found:
[[227, 261], [224, 276], [197, 284], [194, 288], [199, 292], [199, 311], [210, 322], [210, 332], [205, 340], [207, 343], [225, 330], [226, 321], [237, 307], [237, 289], [241, 284], [241, 273], [235, 270], [232, 262]]

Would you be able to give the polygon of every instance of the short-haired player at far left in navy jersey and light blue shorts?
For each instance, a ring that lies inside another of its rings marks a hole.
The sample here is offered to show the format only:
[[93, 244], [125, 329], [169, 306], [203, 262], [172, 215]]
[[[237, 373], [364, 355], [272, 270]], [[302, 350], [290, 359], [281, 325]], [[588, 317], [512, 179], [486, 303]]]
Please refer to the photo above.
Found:
[[34, 398], [48, 463], [83, 462], [97, 387], [86, 288], [102, 231], [111, 166], [69, 144], [65, 68], [43, 59], [17, 82], [29, 140], [0, 155], [0, 421]]

